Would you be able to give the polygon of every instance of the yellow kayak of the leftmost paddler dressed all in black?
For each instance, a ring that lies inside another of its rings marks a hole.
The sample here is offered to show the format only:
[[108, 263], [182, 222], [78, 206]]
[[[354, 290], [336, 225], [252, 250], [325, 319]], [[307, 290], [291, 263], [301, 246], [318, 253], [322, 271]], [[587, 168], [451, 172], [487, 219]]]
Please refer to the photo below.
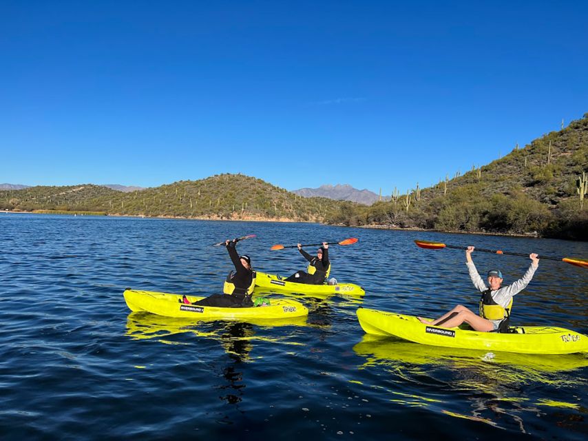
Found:
[[[308, 316], [302, 303], [287, 298], [270, 299], [271, 304], [261, 307], [224, 308], [200, 305], [185, 305], [180, 302], [182, 294], [126, 289], [125, 302], [131, 311], [147, 311], [166, 317], [183, 317], [193, 320], [276, 320]], [[204, 297], [186, 296], [190, 302]]]

